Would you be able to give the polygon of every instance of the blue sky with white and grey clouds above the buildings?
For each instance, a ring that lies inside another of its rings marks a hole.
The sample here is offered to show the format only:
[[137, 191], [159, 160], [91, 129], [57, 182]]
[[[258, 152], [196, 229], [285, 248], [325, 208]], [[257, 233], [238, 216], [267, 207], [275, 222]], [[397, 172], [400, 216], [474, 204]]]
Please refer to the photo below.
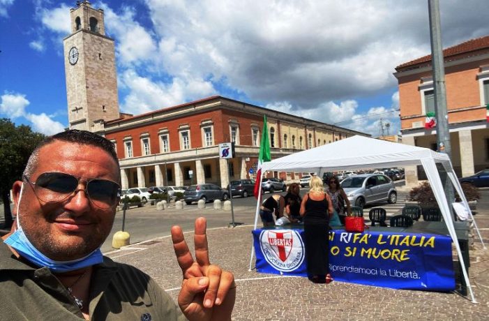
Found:
[[[441, 0], [444, 47], [489, 35], [486, 0]], [[430, 54], [427, 0], [119, 0], [119, 107], [220, 95], [379, 136], [400, 131], [396, 66]], [[0, 0], [0, 117], [68, 126], [63, 38], [76, 1]], [[389, 124], [389, 127], [385, 126]]]

